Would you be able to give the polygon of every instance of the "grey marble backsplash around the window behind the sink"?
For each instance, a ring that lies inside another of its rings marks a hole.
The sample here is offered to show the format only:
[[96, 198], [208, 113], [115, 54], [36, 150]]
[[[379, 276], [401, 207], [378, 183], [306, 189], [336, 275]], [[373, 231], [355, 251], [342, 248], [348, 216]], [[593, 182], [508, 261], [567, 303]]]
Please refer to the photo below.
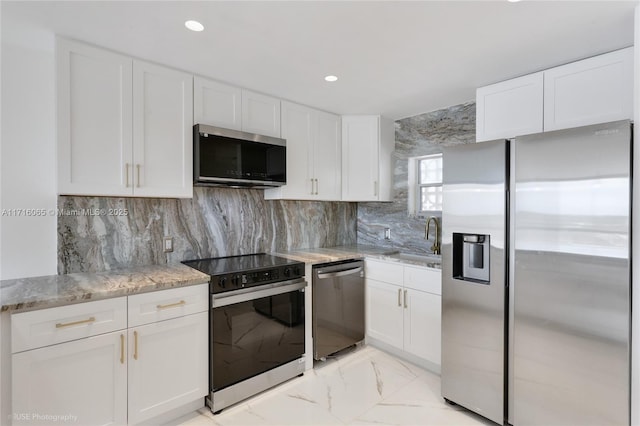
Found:
[[[424, 238], [426, 217], [408, 213], [408, 159], [442, 152], [443, 146], [474, 143], [476, 105], [468, 102], [395, 122], [394, 197], [391, 203], [358, 204], [358, 244], [429, 254], [434, 241]], [[441, 212], [433, 216], [442, 218]], [[391, 239], [384, 239], [385, 228]]]

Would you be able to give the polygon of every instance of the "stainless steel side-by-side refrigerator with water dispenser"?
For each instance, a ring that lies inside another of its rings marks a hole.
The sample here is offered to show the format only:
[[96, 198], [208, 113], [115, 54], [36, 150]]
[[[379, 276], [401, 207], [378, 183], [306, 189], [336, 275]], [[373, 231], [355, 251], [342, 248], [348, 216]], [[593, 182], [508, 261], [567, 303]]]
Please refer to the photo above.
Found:
[[630, 423], [632, 129], [446, 148], [442, 396], [503, 424]]

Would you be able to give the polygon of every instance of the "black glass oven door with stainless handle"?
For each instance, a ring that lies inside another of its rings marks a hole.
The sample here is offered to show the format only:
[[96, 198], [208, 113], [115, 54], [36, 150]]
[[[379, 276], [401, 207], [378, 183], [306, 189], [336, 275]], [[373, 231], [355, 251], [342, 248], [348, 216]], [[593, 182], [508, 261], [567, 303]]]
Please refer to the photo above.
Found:
[[[304, 279], [213, 295], [213, 392], [304, 355]], [[265, 288], [268, 287], [268, 288]]]

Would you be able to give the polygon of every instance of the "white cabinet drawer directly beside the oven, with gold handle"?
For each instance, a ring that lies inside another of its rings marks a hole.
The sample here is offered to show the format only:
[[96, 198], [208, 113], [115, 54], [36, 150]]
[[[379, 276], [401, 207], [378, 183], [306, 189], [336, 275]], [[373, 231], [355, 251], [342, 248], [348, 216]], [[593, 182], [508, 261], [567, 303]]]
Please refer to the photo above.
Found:
[[209, 284], [129, 296], [129, 327], [204, 312], [209, 309]]

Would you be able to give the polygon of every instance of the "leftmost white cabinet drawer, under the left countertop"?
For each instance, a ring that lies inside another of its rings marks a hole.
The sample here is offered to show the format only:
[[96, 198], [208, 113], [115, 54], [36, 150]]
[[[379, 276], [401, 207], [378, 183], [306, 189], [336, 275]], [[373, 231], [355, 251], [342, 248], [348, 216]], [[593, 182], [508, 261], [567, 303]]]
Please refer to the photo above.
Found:
[[97, 300], [11, 316], [12, 353], [127, 328], [127, 299]]

